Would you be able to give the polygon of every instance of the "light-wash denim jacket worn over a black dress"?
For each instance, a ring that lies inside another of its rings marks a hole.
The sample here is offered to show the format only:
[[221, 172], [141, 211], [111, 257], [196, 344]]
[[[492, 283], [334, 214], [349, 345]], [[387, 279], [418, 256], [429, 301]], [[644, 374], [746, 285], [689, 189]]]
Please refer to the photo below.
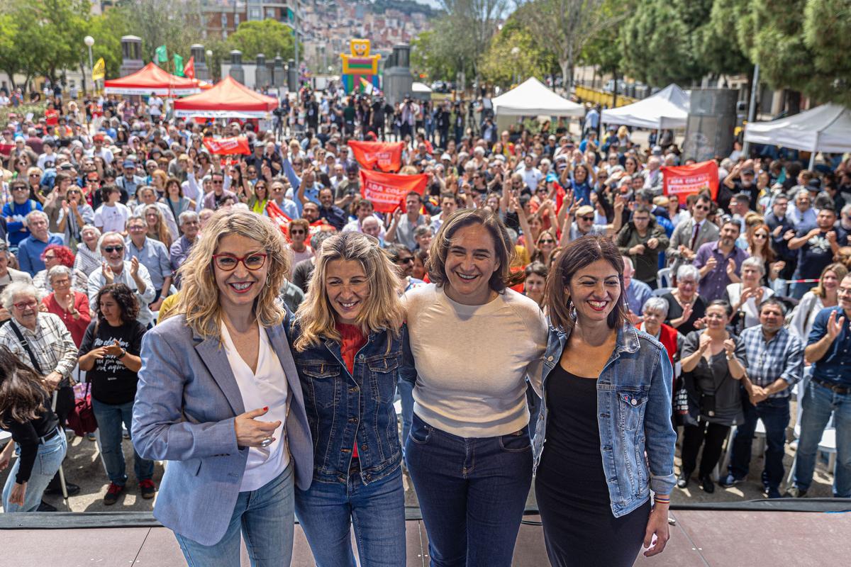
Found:
[[[533, 443], [535, 470], [546, 442], [546, 379], [567, 343], [567, 332], [550, 327]], [[618, 330], [614, 352], [597, 379], [600, 453], [615, 518], [641, 506], [651, 489], [668, 494], [674, 487], [672, 380], [671, 362], [661, 343], [629, 324]]]

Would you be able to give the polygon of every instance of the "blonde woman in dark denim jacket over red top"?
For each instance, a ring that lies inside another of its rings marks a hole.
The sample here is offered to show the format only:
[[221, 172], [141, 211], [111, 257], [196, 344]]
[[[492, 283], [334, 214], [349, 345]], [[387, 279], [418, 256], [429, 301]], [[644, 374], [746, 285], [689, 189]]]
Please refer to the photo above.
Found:
[[402, 452], [393, 398], [402, 303], [378, 241], [359, 232], [323, 243], [290, 326], [313, 438], [313, 483], [295, 513], [318, 567], [405, 564]]

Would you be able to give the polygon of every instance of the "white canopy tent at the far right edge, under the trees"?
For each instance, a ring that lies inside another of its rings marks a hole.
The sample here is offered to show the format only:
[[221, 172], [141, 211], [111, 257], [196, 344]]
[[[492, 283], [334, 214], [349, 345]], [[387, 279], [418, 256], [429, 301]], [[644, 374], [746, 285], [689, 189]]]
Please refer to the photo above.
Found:
[[821, 105], [771, 122], [752, 122], [745, 125], [745, 142], [811, 151], [812, 169], [820, 151], [851, 151], [851, 111], [840, 105]]

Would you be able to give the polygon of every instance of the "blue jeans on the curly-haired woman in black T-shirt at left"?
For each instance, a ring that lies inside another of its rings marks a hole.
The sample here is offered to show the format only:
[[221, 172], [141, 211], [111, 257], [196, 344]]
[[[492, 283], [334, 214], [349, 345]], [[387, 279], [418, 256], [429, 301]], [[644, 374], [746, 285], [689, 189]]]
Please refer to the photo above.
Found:
[[[133, 402], [104, 404], [92, 398], [92, 409], [100, 429], [100, 451], [104, 456], [106, 474], [109, 475], [112, 484], [123, 486], [127, 484], [127, 473], [124, 467], [121, 424], [123, 422], [124, 427], [130, 431], [130, 422], [133, 421]], [[135, 449], [133, 456], [133, 470], [136, 473], [136, 480], [152, 479], [154, 462], [140, 457]]]

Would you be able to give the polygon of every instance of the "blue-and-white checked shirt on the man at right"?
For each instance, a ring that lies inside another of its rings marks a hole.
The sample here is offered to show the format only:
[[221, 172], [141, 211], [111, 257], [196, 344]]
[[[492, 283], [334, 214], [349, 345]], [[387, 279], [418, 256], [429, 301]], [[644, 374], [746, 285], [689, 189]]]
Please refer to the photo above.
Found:
[[768, 386], [778, 378], [789, 384], [769, 398], [788, 398], [791, 387], [803, 376], [803, 343], [797, 335], [781, 327], [774, 337], [766, 342], [762, 325], [751, 326], [741, 332], [747, 353], [747, 376], [757, 386]]

